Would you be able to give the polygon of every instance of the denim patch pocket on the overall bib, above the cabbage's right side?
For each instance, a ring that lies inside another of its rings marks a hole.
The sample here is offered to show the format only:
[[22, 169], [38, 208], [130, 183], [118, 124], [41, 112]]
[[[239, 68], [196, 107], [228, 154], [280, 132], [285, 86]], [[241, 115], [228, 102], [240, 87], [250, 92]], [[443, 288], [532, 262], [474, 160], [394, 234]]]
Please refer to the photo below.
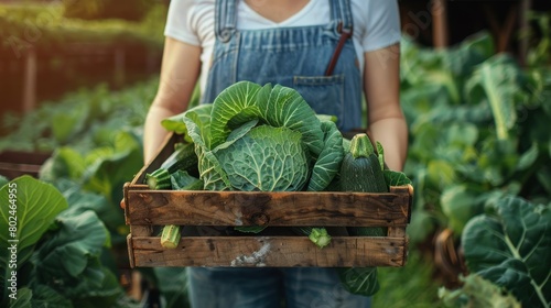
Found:
[[294, 76], [293, 88], [318, 114], [337, 117], [341, 128], [344, 119], [345, 76]]

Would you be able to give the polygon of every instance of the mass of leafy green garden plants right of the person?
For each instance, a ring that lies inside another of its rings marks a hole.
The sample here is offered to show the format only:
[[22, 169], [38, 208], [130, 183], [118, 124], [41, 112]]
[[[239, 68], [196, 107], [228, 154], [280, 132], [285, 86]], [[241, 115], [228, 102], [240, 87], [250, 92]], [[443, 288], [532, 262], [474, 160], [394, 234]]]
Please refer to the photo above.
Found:
[[451, 307], [551, 304], [551, 33], [542, 30], [525, 66], [495, 54], [486, 32], [443, 51], [402, 44], [406, 173], [417, 191], [409, 230], [413, 242], [453, 234], [466, 271], [457, 268], [462, 288], [441, 290]]

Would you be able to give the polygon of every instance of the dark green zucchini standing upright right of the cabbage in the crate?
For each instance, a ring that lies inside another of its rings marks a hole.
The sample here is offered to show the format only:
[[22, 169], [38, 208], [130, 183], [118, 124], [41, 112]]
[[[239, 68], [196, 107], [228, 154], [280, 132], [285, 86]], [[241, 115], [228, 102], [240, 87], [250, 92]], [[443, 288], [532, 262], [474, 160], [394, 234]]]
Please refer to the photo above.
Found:
[[[350, 152], [341, 164], [341, 188], [344, 191], [388, 193], [387, 182], [379, 156], [375, 153], [369, 136], [356, 134], [350, 141]], [[350, 235], [383, 237], [387, 228], [350, 227]]]

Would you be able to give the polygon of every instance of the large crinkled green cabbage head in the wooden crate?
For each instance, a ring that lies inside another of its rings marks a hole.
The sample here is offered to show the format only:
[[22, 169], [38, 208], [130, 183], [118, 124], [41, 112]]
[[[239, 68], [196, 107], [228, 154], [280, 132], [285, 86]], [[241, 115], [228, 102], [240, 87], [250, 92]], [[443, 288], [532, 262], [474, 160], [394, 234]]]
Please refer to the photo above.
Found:
[[344, 157], [335, 120], [292, 88], [239, 81], [162, 124], [195, 144], [206, 190], [317, 191]]

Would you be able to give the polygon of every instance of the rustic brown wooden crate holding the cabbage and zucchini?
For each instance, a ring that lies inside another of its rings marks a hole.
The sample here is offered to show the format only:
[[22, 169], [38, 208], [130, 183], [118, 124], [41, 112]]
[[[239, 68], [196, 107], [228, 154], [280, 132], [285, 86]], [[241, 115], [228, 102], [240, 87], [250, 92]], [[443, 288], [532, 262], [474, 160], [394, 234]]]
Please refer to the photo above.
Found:
[[[411, 186], [391, 187], [390, 193], [385, 194], [151, 190], [142, 184], [143, 177], [172, 153], [174, 141], [175, 138], [171, 136], [155, 160], [123, 188], [132, 267], [366, 267], [406, 264]], [[153, 230], [165, 224], [388, 227], [388, 234], [333, 235], [331, 244], [324, 249], [301, 235], [195, 234], [182, 237], [176, 249], [164, 249]]]

